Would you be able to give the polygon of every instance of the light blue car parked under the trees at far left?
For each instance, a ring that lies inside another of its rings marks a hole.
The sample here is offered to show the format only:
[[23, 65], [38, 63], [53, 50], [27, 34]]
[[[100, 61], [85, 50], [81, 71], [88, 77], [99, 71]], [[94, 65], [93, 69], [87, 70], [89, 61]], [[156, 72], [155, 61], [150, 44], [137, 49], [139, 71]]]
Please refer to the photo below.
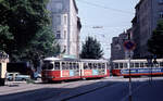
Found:
[[22, 75], [20, 73], [8, 73], [7, 74], [7, 79], [8, 80], [27, 80], [27, 79], [30, 79], [30, 76], [29, 75]]

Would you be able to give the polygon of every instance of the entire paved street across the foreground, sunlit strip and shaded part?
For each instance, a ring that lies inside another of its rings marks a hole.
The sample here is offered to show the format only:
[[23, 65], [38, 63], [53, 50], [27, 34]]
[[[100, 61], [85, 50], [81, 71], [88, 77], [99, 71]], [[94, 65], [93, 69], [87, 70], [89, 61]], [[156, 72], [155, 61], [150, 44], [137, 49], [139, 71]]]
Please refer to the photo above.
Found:
[[[163, 78], [149, 84], [149, 78], [133, 79], [133, 101], [162, 101]], [[148, 93], [158, 93], [148, 99]], [[146, 94], [147, 93], [147, 94]], [[142, 99], [142, 100], [141, 100]], [[0, 101], [128, 101], [128, 79], [77, 80], [63, 84], [8, 83], [0, 87]]]

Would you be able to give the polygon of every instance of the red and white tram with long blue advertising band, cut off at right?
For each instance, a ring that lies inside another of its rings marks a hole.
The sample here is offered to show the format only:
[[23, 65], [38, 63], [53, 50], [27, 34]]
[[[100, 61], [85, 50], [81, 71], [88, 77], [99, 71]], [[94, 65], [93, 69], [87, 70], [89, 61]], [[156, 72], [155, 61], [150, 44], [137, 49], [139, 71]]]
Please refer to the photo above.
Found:
[[128, 65], [128, 60], [112, 61], [112, 75], [124, 77], [128, 77], [129, 75], [163, 75], [163, 59], [158, 59], [156, 63], [148, 63], [145, 59], [130, 60], [130, 67]]

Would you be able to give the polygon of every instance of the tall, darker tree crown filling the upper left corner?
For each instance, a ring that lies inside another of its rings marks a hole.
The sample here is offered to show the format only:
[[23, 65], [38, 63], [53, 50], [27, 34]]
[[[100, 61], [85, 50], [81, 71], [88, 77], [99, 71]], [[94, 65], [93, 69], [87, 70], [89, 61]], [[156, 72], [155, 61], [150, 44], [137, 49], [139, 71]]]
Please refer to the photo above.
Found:
[[[47, 12], [48, 0], [0, 0], [0, 25], [7, 38], [2, 50], [11, 59], [17, 58], [42, 27], [50, 24]], [[4, 34], [0, 33], [0, 37]]]

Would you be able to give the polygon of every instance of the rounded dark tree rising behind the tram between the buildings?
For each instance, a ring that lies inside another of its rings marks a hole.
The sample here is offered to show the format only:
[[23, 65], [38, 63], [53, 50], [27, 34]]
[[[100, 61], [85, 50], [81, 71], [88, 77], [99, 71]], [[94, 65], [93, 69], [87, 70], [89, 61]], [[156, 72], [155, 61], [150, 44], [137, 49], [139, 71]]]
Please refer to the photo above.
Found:
[[82, 48], [82, 59], [100, 59], [103, 55], [103, 50], [101, 50], [100, 42], [92, 37], [88, 37], [86, 42], [83, 43]]

